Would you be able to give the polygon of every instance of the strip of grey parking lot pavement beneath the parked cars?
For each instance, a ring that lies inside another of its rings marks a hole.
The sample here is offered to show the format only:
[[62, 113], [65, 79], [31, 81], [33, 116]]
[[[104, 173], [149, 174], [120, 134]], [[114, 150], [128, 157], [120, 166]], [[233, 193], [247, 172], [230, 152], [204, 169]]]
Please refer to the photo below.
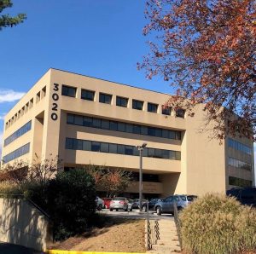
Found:
[[[147, 218], [147, 212], [139, 211], [138, 209], [134, 209], [132, 211], [109, 211], [109, 209], [102, 209], [102, 211], [96, 211], [99, 214], [104, 214], [108, 216], [117, 216], [117, 217], [125, 217], [125, 218]], [[162, 214], [161, 216], [156, 215], [156, 213], [149, 211], [148, 212], [149, 219], [174, 219], [171, 214]]]

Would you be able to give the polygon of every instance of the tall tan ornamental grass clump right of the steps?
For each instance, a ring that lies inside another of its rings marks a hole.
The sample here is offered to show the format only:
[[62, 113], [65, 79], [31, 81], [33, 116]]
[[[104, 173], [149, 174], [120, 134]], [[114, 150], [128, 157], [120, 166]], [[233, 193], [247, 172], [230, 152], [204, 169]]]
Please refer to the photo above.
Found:
[[228, 254], [256, 249], [256, 211], [236, 199], [206, 194], [180, 215], [184, 251]]

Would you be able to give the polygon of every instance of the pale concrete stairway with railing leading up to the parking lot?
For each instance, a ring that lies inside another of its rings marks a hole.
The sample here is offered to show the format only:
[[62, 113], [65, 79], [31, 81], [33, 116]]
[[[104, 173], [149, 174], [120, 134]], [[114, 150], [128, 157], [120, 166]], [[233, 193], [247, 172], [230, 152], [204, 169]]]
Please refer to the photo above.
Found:
[[177, 229], [174, 220], [152, 220], [150, 224], [152, 228], [151, 232], [154, 234], [154, 237], [152, 239], [152, 250], [147, 253], [171, 254], [181, 251], [177, 240]]

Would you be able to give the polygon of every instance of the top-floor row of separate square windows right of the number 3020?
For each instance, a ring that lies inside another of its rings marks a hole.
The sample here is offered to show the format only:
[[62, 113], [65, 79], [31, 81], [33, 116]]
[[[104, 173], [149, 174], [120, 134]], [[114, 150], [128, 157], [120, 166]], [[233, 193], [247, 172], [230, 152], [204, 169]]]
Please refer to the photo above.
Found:
[[[76, 97], [77, 88], [62, 85], [61, 95]], [[99, 102], [111, 104], [113, 95], [108, 95], [104, 93], [100, 93]], [[82, 89], [81, 90], [81, 99], [87, 101], [95, 101], [95, 91]], [[128, 98], [116, 96], [116, 106], [119, 107], [128, 107]], [[132, 108], [137, 110], [143, 110], [144, 101], [132, 100]], [[159, 105], [155, 103], [148, 102], [148, 112], [157, 113]], [[171, 107], [162, 107], [162, 114], [171, 115], [172, 108]], [[184, 118], [185, 111], [183, 109], [177, 109], [176, 116], [178, 118]]]

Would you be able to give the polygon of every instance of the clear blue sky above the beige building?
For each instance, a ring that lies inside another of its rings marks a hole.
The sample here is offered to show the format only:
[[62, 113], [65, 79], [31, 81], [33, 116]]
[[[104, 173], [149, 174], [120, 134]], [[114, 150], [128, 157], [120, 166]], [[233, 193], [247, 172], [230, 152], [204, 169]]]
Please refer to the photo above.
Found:
[[[13, 0], [5, 13], [26, 13], [0, 31], [0, 147], [3, 116], [49, 67], [172, 93], [147, 80], [137, 62], [147, 54], [144, 0]], [[0, 151], [1, 153], [1, 151]]]

